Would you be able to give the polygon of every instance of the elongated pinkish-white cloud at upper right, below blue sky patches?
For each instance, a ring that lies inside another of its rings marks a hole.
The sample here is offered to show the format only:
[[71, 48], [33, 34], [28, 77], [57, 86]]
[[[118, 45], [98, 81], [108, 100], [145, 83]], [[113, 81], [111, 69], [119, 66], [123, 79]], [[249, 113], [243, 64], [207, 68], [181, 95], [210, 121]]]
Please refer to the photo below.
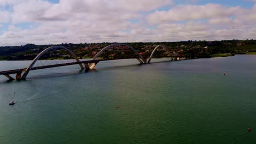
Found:
[[147, 17], [149, 23], [213, 19], [215, 17], [232, 16], [240, 7], [226, 8], [220, 4], [177, 5], [168, 11], [155, 11]]

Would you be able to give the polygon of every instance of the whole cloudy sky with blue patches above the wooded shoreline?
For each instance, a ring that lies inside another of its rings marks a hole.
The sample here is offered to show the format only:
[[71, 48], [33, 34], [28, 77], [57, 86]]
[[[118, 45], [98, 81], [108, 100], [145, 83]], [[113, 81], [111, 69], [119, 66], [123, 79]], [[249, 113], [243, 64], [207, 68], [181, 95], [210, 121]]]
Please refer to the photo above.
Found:
[[0, 0], [0, 46], [256, 39], [256, 0]]

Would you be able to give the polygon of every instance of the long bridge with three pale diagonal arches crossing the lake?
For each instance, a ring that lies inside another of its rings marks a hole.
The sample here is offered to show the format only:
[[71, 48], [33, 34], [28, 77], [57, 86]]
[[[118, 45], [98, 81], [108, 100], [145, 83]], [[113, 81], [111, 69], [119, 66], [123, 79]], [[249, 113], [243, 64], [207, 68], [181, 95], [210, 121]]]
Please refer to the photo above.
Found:
[[[51, 47], [48, 47], [47, 49], [43, 50], [42, 52], [40, 52], [37, 55], [37, 57], [33, 59], [31, 64], [27, 68], [0, 71], [0, 75], [6, 76], [9, 80], [15, 80], [15, 79], [16, 80], [19, 80], [19, 79], [24, 80], [24, 79], [26, 79], [30, 70], [38, 70], [38, 69], [46, 69], [46, 68], [54, 68], [54, 67], [63, 67], [63, 66], [66, 66], [66, 65], [75, 65], [75, 64], [78, 64], [80, 66], [81, 70], [85, 69], [85, 71], [89, 71], [90, 69], [94, 69], [98, 62], [116, 60], [116, 59], [97, 59], [97, 57], [100, 56], [104, 51], [108, 50], [110, 47], [113, 47], [115, 45], [123, 45], [123, 46], [129, 47], [129, 49], [134, 51], [135, 54], [138, 56], [138, 58], [136, 58], [136, 59], [138, 60], [138, 62], [140, 64], [149, 64], [151, 62], [151, 59], [153, 58], [156, 50], [159, 49], [159, 47], [166, 47], [165, 45], [156, 46], [155, 49], [153, 50], [152, 54], [148, 58], [148, 61], [147, 61], [147, 58], [143, 58], [142, 55], [137, 50], [135, 50], [133, 47], [131, 47], [129, 45], [126, 45], [126, 44], [115, 43], [115, 44], [111, 44], [111, 45], [108, 45], [108, 46], [104, 47], [91, 60], [89, 60], [89, 61], [80, 61], [77, 58], [77, 56], [75, 56], [75, 54], [71, 50], [67, 49], [66, 47], [64, 47], [64, 46], [51, 46]], [[62, 64], [57, 64], [56, 63], [56, 64], [51, 64], [51, 65], [43, 65], [43, 66], [39, 66], [39, 67], [33, 67], [34, 64], [37, 61], [39, 61], [39, 58], [42, 57], [46, 52], [48, 52], [50, 50], [56, 50], [56, 49], [65, 50], [66, 52], [69, 53], [69, 55], [71, 55], [75, 59], [76, 62], [68, 62], [68, 63], [62, 63]], [[177, 56], [176, 56], [176, 58], [177, 58]], [[119, 59], [123, 59], [123, 58], [119, 58]], [[11, 74], [16, 74], [16, 76], [12, 77], [12, 76], [10, 76]]]

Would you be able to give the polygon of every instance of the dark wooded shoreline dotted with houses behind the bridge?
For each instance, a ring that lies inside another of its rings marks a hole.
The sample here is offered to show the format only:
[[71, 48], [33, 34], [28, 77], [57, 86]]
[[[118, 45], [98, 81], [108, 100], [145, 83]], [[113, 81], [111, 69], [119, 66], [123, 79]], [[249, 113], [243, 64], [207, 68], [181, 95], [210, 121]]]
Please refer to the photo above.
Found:
[[[59, 44], [67, 47], [75, 53], [79, 58], [93, 57], [103, 47], [112, 43], [83, 43]], [[179, 55], [186, 58], [203, 58], [214, 57], [228, 53], [229, 55], [236, 54], [256, 54], [256, 40], [221, 40], [221, 41], [179, 41], [179, 42], [158, 42], [158, 43], [125, 43], [134, 47], [138, 52], [142, 53], [143, 57], [149, 57], [156, 45], [165, 45], [167, 49], [159, 49], [154, 57], [166, 57], [171, 55]], [[35, 45], [26, 44], [21, 46], [1, 46], [0, 60], [26, 60], [33, 59], [39, 52], [53, 45]], [[103, 58], [131, 58], [136, 57], [130, 49], [120, 49], [116, 46], [113, 49], [105, 51], [101, 57]], [[46, 53], [43, 59], [65, 58], [69, 56], [63, 50], [56, 50]]]

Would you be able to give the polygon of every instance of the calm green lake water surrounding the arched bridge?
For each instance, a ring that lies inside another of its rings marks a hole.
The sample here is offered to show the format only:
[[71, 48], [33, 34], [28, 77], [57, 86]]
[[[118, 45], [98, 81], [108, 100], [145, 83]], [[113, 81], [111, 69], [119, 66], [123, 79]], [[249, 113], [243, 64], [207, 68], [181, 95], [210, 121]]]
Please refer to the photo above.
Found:
[[0, 76], [0, 143], [255, 143], [256, 56], [164, 60]]

